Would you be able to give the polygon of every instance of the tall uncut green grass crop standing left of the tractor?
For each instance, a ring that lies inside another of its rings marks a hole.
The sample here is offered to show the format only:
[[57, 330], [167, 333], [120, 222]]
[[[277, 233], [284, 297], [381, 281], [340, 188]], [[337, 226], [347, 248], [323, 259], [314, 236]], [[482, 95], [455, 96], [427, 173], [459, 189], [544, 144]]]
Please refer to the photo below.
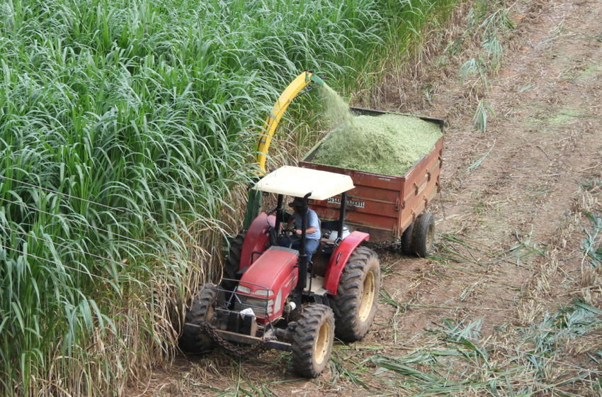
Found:
[[350, 86], [409, 7], [1, 0], [0, 394], [121, 396], [169, 357], [280, 91]]

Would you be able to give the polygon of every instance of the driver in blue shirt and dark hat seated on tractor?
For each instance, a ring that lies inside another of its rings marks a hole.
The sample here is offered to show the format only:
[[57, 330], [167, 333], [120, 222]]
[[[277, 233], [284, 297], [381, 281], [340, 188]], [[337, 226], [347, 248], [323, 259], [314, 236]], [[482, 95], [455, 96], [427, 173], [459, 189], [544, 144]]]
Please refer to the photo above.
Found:
[[[303, 212], [303, 199], [300, 197], [295, 197], [295, 200], [292, 203], [289, 203], [288, 206], [293, 208], [293, 216], [288, 218], [288, 223], [286, 223], [286, 228], [290, 229], [295, 223], [295, 229], [293, 230], [294, 235], [290, 237], [283, 237], [280, 240], [280, 247], [288, 247], [290, 242], [293, 242], [291, 248], [295, 248], [298, 250], [301, 246], [301, 213]], [[317, 213], [313, 210], [307, 208], [307, 213], [305, 213], [305, 252], [307, 254], [307, 262], [311, 262], [312, 260], [312, 252], [317, 250], [317, 247], [320, 243], [320, 237], [322, 236], [322, 232], [319, 229], [319, 221]]]

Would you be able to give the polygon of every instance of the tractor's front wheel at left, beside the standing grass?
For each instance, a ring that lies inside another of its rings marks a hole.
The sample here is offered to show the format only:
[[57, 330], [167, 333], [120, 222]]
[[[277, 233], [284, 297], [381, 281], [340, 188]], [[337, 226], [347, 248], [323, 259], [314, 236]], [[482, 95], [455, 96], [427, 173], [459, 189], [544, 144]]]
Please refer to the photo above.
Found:
[[211, 321], [214, 314], [217, 289], [212, 284], [204, 284], [200, 291], [195, 291], [191, 306], [186, 311], [184, 328], [180, 336], [179, 346], [184, 352], [200, 353], [210, 350], [213, 345], [212, 338], [198, 327], [186, 324], [200, 325]]

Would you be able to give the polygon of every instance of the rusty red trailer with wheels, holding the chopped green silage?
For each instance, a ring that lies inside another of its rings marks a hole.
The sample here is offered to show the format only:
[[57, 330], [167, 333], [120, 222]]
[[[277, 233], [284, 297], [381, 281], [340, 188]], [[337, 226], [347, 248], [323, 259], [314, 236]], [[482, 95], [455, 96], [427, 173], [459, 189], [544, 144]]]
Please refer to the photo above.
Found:
[[[357, 116], [387, 113], [362, 108], [351, 108], [351, 111]], [[443, 131], [443, 120], [427, 117], [421, 119], [436, 123]], [[320, 144], [305, 156], [299, 167], [345, 174], [353, 179], [356, 188], [347, 193], [346, 214], [346, 225], [351, 230], [370, 233], [370, 242], [393, 240], [403, 235], [404, 252], [428, 255], [433, 245], [433, 217], [430, 214], [423, 217], [420, 215], [440, 189], [443, 138], [403, 177], [313, 164], [312, 160], [319, 150]], [[337, 196], [326, 201], [310, 201], [310, 207], [322, 220], [334, 220], [339, 217], [340, 203], [341, 198]], [[406, 230], [407, 233], [404, 234]], [[419, 240], [425, 238], [426, 246], [420, 247]]]

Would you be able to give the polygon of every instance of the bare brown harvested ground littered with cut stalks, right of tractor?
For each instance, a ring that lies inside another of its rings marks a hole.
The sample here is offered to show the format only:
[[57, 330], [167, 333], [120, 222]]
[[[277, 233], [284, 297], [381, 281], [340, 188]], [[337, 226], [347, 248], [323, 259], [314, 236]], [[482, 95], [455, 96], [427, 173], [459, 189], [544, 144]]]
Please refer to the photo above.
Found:
[[429, 207], [438, 249], [378, 250], [383, 289], [365, 340], [336, 343], [314, 380], [298, 379], [288, 354], [217, 351], [177, 357], [132, 395], [601, 395], [602, 274], [581, 227], [602, 210], [602, 2], [518, 1], [510, 15], [486, 133], [472, 129], [473, 91], [455, 76], [428, 101], [381, 106], [449, 127]]

